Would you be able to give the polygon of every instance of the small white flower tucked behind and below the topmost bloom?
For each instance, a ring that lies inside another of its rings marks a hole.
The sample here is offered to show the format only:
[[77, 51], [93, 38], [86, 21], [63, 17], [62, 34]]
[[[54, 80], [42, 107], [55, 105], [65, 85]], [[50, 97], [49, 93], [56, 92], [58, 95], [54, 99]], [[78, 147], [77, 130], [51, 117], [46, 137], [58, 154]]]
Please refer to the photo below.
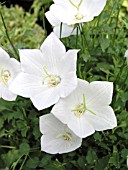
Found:
[[[61, 33], [61, 38], [65, 38], [70, 35], [77, 34], [77, 28], [74, 28], [75, 25], [67, 25], [62, 23], [62, 30], [60, 31], [61, 22], [56, 17], [54, 17], [51, 11], [46, 12], [45, 15], [48, 21], [50, 22], [50, 24], [54, 27], [53, 32], [56, 34], [58, 38], [60, 38], [60, 33]], [[80, 32], [78, 32], [78, 34], [79, 33]]]

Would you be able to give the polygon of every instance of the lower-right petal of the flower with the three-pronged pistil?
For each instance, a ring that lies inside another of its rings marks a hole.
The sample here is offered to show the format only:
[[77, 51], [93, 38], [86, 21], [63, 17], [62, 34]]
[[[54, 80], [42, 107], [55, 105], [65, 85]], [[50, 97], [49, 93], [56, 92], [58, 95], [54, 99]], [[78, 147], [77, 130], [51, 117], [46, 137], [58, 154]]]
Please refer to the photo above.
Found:
[[113, 109], [110, 106], [89, 108], [96, 115], [88, 112], [87, 120], [92, 124], [95, 130], [103, 131], [113, 129], [117, 126], [117, 119]]

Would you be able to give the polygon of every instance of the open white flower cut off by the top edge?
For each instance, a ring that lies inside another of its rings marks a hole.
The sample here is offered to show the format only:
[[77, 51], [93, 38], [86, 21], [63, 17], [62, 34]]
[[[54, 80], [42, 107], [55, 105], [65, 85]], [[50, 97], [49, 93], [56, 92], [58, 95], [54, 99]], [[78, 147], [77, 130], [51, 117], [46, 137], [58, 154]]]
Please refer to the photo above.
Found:
[[60, 22], [72, 25], [88, 22], [98, 16], [107, 0], [53, 0], [50, 12]]

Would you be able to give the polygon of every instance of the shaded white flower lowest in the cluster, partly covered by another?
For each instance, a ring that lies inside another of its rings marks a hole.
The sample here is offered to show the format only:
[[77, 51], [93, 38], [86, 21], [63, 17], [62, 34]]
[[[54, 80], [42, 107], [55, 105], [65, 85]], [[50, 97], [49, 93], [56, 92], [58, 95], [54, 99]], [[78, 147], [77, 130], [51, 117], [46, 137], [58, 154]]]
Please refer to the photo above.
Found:
[[41, 150], [50, 154], [67, 153], [81, 146], [82, 139], [52, 114], [40, 117]]

